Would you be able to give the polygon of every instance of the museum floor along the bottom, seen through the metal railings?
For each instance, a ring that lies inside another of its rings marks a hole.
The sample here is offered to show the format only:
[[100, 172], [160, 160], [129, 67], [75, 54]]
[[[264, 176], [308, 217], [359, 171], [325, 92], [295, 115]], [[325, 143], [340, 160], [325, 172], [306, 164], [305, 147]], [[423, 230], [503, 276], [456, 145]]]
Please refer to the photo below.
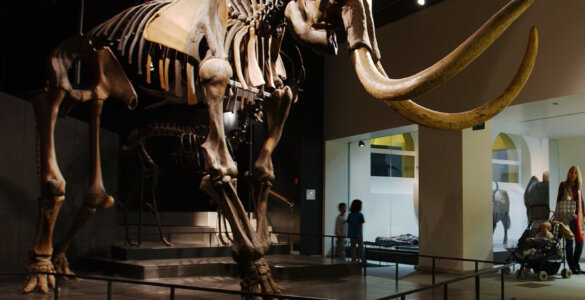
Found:
[[[286, 288], [286, 294], [331, 299], [378, 299], [396, 292], [419, 288], [430, 283], [429, 273], [415, 271], [412, 266], [401, 265], [398, 283], [394, 280], [394, 267], [370, 267], [367, 276], [352, 275], [331, 280], [279, 281]], [[452, 278], [439, 275], [437, 282]], [[19, 292], [23, 278], [0, 279], [0, 299], [49, 300], [53, 294]], [[192, 285], [208, 288], [239, 289], [239, 281], [230, 277], [187, 277], [180, 279], [158, 279], [157, 281]], [[501, 299], [498, 275], [482, 277], [481, 299]], [[106, 283], [89, 280], [68, 281], [63, 283], [59, 299], [106, 299]], [[517, 280], [512, 275], [505, 276], [505, 299], [583, 299], [585, 295], [585, 275], [575, 275], [562, 279], [560, 275], [551, 276], [548, 281], [540, 282], [535, 278]], [[474, 299], [474, 281], [466, 280], [449, 286], [449, 299]], [[114, 283], [112, 299], [169, 299], [169, 290], [157, 287], [144, 287]], [[175, 299], [240, 299], [239, 296], [211, 294], [207, 292], [179, 291]], [[427, 291], [406, 299], [443, 299], [443, 289]]]

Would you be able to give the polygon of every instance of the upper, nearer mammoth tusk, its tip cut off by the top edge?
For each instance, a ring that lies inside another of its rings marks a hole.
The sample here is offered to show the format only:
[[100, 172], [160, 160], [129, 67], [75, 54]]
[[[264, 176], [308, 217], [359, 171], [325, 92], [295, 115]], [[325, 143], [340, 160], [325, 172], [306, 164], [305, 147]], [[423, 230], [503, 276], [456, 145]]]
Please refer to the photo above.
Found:
[[401, 79], [382, 76], [366, 47], [351, 52], [356, 73], [372, 96], [402, 101], [419, 96], [447, 81], [479, 56], [534, 0], [513, 0], [492, 16], [459, 47], [427, 69]]

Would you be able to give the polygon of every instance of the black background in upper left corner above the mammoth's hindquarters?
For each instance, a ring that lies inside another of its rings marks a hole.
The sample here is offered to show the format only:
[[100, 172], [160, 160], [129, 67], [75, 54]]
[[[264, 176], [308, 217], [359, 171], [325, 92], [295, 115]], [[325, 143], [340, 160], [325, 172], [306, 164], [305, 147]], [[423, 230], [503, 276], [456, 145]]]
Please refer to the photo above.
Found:
[[47, 57], [63, 40], [112, 17], [137, 0], [3, 1], [0, 10], [0, 90], [20, 94], [43, 88]]

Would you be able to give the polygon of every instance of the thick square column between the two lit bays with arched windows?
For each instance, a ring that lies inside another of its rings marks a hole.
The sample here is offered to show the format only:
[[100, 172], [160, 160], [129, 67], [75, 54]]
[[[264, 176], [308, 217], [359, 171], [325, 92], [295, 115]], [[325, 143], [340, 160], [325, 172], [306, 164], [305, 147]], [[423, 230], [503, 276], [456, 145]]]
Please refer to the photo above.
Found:
[[[419, 253], [491, 260], [491, 122], [485, 129], [440, 131], [419, 127]], [[430, 259], [417, 268], [428, 270]], [[473, 263], [437, 260], [447, 273]]]

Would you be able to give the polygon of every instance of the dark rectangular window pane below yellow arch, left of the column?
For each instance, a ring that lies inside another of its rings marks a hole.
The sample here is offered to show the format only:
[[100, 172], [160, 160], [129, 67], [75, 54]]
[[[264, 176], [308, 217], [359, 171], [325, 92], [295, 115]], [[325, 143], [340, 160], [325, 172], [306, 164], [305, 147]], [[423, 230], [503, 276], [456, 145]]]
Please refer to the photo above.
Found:
[[414, 156], [372, 153], [371, 176], [414, 178]]

